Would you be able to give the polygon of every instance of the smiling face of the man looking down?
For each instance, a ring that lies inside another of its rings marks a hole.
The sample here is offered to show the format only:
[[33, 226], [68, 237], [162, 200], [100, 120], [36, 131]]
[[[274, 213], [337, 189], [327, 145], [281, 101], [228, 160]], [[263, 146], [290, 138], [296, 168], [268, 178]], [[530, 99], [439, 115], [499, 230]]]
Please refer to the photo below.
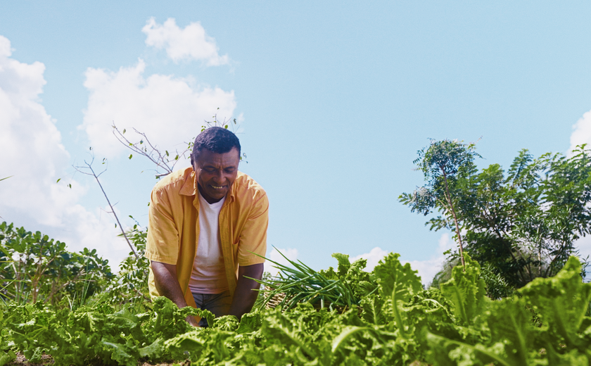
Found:
[[193, 161], [193, 170], [197, 173], [199, 191], [205, 201], [215, 203], [226, 196], [236, 180], [239, 162], [240, 156], [236, 148], [227, 153], [201, 150]]

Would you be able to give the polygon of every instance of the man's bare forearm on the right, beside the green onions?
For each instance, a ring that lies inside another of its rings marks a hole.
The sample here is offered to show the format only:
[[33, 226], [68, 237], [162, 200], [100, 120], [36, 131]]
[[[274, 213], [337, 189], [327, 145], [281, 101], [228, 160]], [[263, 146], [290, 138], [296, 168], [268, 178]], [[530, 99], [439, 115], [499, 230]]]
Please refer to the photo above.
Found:
[[238, 268], [238, 282], [236, 283], [236, 291], [234, 291], [234, 299], [230, 306], [230, 315], [236, 315], [238, 319], [242, 315], [248, 313], [250, 309], [255, 305], [257, 300], [258, 291], [260, 284], [253, 279], [246, 277], [252, 277], [255, 279], [262, 278], [262, 270], [264, 269], [262, 263], [256, 265], [246, 265]]

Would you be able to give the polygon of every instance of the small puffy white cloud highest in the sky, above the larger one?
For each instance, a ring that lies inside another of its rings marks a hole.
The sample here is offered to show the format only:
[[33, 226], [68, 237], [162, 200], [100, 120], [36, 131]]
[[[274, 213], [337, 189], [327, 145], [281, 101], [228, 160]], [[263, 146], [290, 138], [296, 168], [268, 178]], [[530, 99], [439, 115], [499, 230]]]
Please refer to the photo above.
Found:
[[166, 49], [167, 56], [176, 63], [182, 60], [203, 61], [208, 66], [229, 63], [227, 55], [218, 54], [215, 39], [205, 34], [199, 22], [181, 29], [174, 18], [168, 18], [162, 25], [150, 18], [141, 31], [146, 33], [146, 45]]

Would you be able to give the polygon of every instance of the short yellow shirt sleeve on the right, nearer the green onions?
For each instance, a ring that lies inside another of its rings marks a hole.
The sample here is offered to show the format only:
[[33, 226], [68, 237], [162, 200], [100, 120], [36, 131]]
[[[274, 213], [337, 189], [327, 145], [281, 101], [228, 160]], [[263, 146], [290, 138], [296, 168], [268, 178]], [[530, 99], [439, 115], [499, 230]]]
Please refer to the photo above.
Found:
[[[238, 264], [241, 266], [264, 263], [267, 253], [267, 227], [269, 226], [269, 199], [267, 194], [255, 197], [238, 242]], [[252, 253], [251, 253], [252, 252]]]

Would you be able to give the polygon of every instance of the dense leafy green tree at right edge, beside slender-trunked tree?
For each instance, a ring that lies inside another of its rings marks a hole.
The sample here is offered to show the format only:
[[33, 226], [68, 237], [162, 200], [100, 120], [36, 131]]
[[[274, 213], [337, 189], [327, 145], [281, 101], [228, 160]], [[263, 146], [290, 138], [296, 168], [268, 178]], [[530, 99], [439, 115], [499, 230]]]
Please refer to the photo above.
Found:
[[[471, 148], [463, 147], [466, 153]], [[472, 160], [462, 164], [450, 189], [456, 218], [434, 205], [443, 215], [427, 222], [431, 229], [457, 222], [464, 250], [515, 288], [553, 276], [578, 253], [574, 242], [591, 232], [591, 156], [584, 145], [570, 157], [546, 153], [534, 159], [524, 149], [507, 173], [498, 164], [481, 172]], [[409, 196], [400, 201], [413, 210]]]

